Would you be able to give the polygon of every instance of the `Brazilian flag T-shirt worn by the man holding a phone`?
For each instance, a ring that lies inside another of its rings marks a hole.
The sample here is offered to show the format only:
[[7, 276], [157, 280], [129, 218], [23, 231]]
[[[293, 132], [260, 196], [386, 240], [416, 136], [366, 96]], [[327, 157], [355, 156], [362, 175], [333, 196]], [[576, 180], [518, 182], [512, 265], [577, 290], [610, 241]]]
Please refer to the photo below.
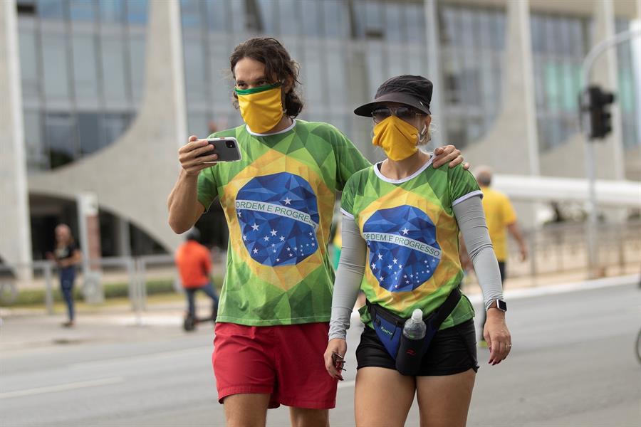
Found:
[[219, 197], [229, 226], [218, 322], [269, 326], [329, 322], [334, 272], [328, 258], [336, 191], [370, 166], [332, 125], [294, 120], [271, 135], [245, 125], [239, 162], [203, 169], [198, 201]]

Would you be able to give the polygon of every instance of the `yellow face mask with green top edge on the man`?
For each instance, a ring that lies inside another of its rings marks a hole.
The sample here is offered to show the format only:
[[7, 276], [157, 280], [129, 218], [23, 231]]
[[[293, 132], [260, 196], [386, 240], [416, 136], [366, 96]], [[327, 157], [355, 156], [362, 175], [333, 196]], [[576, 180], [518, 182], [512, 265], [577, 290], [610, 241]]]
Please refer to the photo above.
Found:
[[269, 132], [283, 118], [281, 83], [252, 89], [235, 88], [234, 91], [241, 116], [252, 132]]

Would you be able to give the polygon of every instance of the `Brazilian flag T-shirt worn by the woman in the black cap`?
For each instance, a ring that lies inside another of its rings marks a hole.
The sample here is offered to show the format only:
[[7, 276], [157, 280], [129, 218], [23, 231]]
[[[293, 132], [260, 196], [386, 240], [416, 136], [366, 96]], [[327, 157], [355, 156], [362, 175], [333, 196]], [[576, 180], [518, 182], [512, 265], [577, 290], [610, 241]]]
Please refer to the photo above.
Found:
[[[378, 164], [354, 174], [345, 184], [341, 211], [354, 218], [368, 245], [361, 290], [372, 303], [400, 317], [419, 308], [428, 315], [462, 280], [459, 226], [452, 206], [482, 196], [476, 180], [460, 165], [432, 167], [392, 180]], [[474, 317], [462, 297], [441, 329]], [[361, 310], [368, 324], [370, 315]]]

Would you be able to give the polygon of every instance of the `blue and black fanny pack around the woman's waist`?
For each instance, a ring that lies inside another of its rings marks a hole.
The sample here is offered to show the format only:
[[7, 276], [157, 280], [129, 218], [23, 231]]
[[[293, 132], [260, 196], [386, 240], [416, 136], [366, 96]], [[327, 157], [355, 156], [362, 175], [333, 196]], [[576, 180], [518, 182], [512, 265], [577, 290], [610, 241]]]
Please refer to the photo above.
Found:
[[[431, 312], [427, 317], [423, 318], [425, 325], [427, 325], [427, 332], [425, 333], [424, 341], [422, 343], [422, 353], [419, 355], [422, 357], [424, 352], [427, 351], [429, 347], [429, 342], [432, 341], [434, 335], [438, 332], [439, 327], [447, 316], [452, 313], [454, 307], [457, 306], [459, 300], [461, 299], [461, 291], [459, 288], [454, 288], [452, 292], [449, 292], [447, 299], [443, 304]], [[382, 342], [387, 349], [387, 352], [390, 354], [392, 359], [396, 360], [398, 349], [400, 347], [401, 338], [403, 337], [403, 327], [405, 326], [405, 321], [403, 319], [390, 312], [386, 308], [381, 307], [378, 304], [372, 304], [367, 301], [368, 310], [370, 316], [372, 317], [372, 325], [378, 336], [378, 339]]]

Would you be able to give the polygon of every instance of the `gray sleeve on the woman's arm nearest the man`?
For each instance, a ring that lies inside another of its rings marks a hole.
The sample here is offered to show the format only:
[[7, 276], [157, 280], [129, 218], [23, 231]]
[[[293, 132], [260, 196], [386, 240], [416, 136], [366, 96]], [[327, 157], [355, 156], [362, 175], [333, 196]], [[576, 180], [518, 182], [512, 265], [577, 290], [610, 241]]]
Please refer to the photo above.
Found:
[[360, 236], [360, 230], [354, 219], [343, 214], [342, 230], [343, 248], [340, 250], [340, 261], [334, 282], [329, 339], [345, 339], [346, 331], [350, 327], [352, 310], [358, 297], [360, 282], [365, 274], [365, 256], [368, 246]]

